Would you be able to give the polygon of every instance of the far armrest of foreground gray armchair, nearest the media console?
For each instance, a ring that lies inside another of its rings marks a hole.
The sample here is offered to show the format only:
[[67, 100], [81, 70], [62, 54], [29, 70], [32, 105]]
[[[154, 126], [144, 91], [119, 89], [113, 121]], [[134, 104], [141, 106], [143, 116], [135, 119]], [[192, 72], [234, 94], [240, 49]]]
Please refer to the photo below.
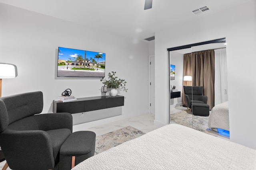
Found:
[[34, 119], [42, 131], [66, 128], [72, 133], [73, 117], [70, 113], [45, 113], [34, 115]]

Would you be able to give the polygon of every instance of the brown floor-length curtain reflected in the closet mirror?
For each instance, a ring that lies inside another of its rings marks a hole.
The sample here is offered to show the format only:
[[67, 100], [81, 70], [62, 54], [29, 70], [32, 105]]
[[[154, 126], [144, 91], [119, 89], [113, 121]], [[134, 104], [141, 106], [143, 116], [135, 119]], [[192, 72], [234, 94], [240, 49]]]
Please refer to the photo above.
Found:
[[[185, 56], [191, 56], [190, 68], [185, 68], [185, 66], [189, 66], [189, 59], [185, 61]], [[208, 97], [207, 104], [210, 109], [214, 107], [214, 61], [214, 50], [184, 54], [184, 73], [189, 74], [188, 71], [191, 71], [192, 86], [204, 86], [204, 96]]]

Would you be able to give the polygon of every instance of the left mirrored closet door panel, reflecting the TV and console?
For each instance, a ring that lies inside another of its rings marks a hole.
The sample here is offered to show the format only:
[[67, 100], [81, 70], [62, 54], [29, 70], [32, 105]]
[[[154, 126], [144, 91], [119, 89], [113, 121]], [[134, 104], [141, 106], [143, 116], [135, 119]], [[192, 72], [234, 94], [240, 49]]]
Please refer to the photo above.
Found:
[[[191, 48], [169, 51], [170, 123], [178, 123], [192, 128], [192, 112], [186, 106], [183, 92], [184, 85], [191, 86], [191, 81], [184, 81], [184, 76], [191, 72], [191, 70], [184, 70], [184, 68], [190, 68], [191, 63], [190, 58], [184, 58], [185, 54], [191, 55]], [[172, 75], [175, 75], [175, 77], [172, 77]]]

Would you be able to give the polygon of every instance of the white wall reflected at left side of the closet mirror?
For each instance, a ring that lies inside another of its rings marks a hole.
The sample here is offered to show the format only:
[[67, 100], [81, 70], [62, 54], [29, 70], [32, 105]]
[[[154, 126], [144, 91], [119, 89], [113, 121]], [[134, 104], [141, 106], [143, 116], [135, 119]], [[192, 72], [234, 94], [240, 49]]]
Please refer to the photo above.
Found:
[[170, 108], [182, 106], [183, 93], [183, 54], [170, 51], [170, 64], [175, 65], [175, 79], [170, 80], [170, 85], [175, 86], [180, 91], [180, 98], [170, 99]]

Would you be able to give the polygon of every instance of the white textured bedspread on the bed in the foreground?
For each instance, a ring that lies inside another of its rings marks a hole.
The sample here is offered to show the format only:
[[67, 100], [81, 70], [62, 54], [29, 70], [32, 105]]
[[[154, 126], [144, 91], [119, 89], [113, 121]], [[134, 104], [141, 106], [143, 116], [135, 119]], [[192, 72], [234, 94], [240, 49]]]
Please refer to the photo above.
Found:
[[170, 124], [84, 160], [72, 170], [256, 169], [256, 150]]

